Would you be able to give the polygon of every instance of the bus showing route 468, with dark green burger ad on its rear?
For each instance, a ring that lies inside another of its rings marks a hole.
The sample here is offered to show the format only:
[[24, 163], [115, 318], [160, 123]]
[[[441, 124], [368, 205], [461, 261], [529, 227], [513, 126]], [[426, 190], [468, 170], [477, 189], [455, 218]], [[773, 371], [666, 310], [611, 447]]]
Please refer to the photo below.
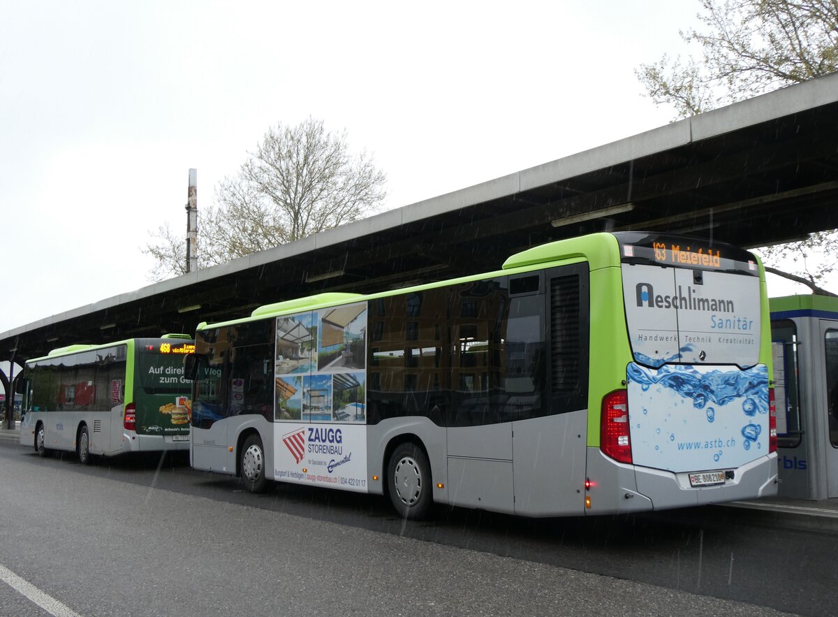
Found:
[[191, 383], [184, 355], [194, 351], [186, 334], [70, 345], [28, 360], [18, 379], [23, 392], [20, 443], [44, 456], [189, 449]]

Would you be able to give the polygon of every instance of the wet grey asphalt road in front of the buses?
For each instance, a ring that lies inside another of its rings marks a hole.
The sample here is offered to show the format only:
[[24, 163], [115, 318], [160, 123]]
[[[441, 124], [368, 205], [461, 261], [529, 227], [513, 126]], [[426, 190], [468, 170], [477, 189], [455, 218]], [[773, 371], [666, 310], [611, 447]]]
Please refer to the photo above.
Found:
[[380, 497], [251, 495], [184, 459], [85, 467], [0, 441], [0, 466], [0, 614], [50, 614], [25, 595], [37, 591], [51, 614], [85, 616], [826, 615], [838, 599], [838, 537], [735, 509], [534, 521], [437, 508], [406, 523]]

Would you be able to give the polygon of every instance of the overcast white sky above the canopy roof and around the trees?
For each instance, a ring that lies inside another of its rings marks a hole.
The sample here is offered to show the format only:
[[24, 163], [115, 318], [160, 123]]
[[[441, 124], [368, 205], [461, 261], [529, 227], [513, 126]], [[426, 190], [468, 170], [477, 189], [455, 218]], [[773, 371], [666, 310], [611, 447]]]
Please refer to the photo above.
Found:
[[664, 125], [634, 69], [698, 8], [0, 0], [0, 333], [149, 284], [189, 168], [200, 210], [277, 122], [345, 129], [388, 208]]

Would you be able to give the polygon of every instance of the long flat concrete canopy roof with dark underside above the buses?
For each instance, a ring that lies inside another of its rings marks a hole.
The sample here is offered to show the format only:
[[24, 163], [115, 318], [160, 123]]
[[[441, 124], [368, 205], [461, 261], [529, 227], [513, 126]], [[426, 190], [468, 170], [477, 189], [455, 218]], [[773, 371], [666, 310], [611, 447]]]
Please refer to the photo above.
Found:
[[838, 74], [40, 319], [0, 333], [0, 360], [194, 332], [313, 293], [495, 270], [516, 251], [592, 231], [764, 246], [838, 227], [836, 198]]

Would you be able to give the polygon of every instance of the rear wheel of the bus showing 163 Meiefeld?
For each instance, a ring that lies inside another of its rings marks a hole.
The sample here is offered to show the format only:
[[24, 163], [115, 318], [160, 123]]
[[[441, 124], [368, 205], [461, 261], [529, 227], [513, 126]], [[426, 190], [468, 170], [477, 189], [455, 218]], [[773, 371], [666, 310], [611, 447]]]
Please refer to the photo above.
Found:
[[431, 465], [416, 443], [401, 443], [387, 464], [387, 492], [399, 516], [419, 520], [427, 515], [432, 495]]

